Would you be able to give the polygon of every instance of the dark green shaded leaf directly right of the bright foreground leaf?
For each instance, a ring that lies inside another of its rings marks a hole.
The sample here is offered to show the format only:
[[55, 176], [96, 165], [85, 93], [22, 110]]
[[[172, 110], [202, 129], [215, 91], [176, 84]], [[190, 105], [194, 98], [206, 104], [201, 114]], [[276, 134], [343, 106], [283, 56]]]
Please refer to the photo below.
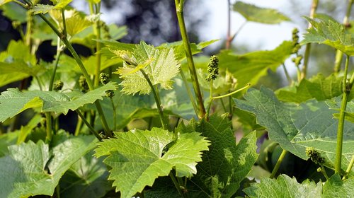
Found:
[[236, 145], [227, 115], [212, 115], [209, 122], [200, 124], [191, 121], [185, 130], [196, 130], [212, 142], [192, 178], [193, 190], [204, 192], [195, 197], [231, 197], [257, 160], [255, 132]]

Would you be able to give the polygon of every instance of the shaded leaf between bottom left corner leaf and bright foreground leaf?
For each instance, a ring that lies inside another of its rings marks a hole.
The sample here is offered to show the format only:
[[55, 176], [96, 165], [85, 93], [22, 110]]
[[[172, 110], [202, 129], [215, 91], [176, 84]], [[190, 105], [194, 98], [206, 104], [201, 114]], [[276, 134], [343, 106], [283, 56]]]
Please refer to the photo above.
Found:
[[60, 179], [62, 197], [103, 197], [112, 189], [107, 167], [102, 158], [94, 158], [93, 151], [76, 161]]

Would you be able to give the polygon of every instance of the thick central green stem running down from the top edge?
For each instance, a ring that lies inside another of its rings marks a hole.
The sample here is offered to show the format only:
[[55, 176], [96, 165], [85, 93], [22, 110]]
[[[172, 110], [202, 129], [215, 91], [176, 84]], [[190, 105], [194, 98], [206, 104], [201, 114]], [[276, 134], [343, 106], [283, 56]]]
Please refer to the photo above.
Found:
[[197, 98], [197, 101], [198, 101], [198, 106], [199, 106], [198, 117], [202, 118], [205, 116], [206, 112], [205, 112], [205, 107], [204, 107], [204, 103], [203, 103], [202, 92], [200, 91], [197, 72], [195, 71], [193, 55], [190, 50], [190, 43], [188, 40], [187, 30], [185, 29], [185, 22], [184, 22], [184, 17], [183, 17], [183, 2], [184, 1], [175, 0], [178, 26], [181, 30], [181, 36], [182, 36], [182, 40], [183, 40], [185, 56], [187, 57], [188, 69], [190, 71], [190, 78], [192, 78], [195, 97]]

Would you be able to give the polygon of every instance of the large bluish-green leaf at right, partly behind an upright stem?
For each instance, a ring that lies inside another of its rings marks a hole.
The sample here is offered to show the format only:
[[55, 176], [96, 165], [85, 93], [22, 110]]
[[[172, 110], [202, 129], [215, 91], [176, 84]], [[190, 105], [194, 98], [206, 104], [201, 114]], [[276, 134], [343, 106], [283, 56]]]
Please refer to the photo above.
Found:
[[[314, 147], [326, 157], [326, 165], [333, 167], [336, 153], [338, 120], [332, 119], [325, 101], [308, 100], [306, 103], [282, 103], [273, 91], [262, 87], [251, 89], [245, 100], [235, 99], [236, 107], [253, 113], [258, 124], [268, 130], [271, 140], [283, 149], [307, 159], [306, 147]], [[345, 169], [354, 154], [354, 124], [345, 122], [343, 132], [343, 166]]]

